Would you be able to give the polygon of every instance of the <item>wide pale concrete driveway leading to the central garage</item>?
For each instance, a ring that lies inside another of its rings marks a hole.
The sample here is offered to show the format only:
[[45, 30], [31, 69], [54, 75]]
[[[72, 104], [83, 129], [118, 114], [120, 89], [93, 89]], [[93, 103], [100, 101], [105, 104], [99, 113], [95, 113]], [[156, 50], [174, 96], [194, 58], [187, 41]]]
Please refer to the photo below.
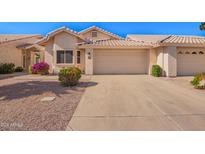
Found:
[[92, 76], [72, 130], [205, 130], [205, 91], [147, 75]]

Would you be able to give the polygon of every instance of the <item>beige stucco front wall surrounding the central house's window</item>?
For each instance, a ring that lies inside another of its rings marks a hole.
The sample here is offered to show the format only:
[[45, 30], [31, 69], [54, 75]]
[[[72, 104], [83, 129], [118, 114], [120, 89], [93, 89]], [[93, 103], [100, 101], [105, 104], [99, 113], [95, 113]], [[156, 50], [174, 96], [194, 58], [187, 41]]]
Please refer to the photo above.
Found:
[[[45, 61], [50, 65], [50, 73], [58, 73], [63, 67], [77, 66], [84, 71], [84, 51], [77, 49], [80, 40], [71, 34], [62, 32], [46, 43]], [[57, 50], [73, 50], [72, 64], [57, 64]], [[81, 51], [81, 63], [77, 64], [77, 51]]]

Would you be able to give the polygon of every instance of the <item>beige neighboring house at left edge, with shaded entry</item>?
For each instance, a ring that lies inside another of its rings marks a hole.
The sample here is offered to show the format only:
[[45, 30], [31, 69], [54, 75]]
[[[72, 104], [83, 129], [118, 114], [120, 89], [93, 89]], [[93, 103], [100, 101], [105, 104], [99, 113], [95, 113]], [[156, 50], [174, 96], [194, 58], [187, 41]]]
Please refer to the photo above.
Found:
[[35, 44], [42, 39], [34, 34], [1, 34], [0, 35], [0, 63], [14, 63], [28, 69], [38, 61], [43, 61], [44, 48]]

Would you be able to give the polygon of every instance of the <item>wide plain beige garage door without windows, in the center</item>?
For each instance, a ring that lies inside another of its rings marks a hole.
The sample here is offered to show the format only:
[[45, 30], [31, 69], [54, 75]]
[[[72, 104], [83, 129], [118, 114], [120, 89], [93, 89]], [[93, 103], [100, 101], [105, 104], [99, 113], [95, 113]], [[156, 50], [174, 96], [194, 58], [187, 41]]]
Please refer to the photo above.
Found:
[[146, 50], [94, 50], [94, 74], [146, 74]]

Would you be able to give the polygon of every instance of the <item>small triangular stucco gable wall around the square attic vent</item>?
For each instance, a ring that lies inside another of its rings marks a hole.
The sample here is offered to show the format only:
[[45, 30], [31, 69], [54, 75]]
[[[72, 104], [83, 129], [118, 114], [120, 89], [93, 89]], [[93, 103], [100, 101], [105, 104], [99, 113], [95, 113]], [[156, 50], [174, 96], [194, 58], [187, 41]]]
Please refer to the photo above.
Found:
[[[94, 30], [95, 31], [95, 30]], [[100, 39], [112, 39], [113, 37], [111, 37], [110, 35], [106, 35], [100, 31], [97, 31], [97, 37], [92, 37], [92, 31], [88, 31], [84, 34], [82, 34], [83, 38], [89, 38], [89, 39], [93, 39], [93, 40], [100, 40]]]

